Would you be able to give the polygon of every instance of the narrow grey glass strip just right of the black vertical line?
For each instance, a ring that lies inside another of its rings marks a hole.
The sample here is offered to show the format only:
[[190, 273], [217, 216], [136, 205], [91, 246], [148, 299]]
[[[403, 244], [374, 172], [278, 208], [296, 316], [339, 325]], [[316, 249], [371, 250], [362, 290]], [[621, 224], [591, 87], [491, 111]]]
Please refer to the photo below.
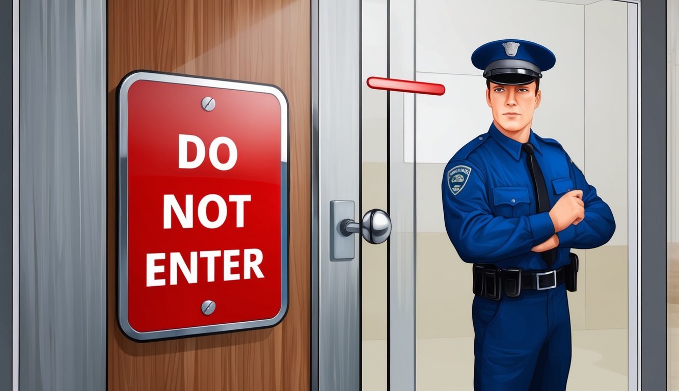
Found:
[[[415, 79], [415, 0], [388, 2], [388, 77]], [[416, 389], [415, 384], [415, 279], [416, 210], [415, 170], [407, 156], [414, 153], [415, 95], [388, 95], [388, 204], [392, 221], [389, 240], [389, 389]]]

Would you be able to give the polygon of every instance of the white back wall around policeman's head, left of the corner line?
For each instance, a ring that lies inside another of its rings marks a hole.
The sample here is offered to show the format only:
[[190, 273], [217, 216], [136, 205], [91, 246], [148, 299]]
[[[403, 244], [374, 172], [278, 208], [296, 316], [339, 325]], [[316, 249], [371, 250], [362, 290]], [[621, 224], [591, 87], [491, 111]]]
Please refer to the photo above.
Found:
[[[460, 147], [488, 131], [492, 115], [485, 103], [485, 79], [483, 71], [472, 65], [471, 54], [483, 43], [504, 38], [535, 41], [555, 53], [555, 67], [540, 80], [543, 103], [536, 111], [533, 130], [540, 136], [559, 138], [574, 151], [574, 159], [583, 160], [582, 5], [433, 0], [418, 3], [417, 17], [418, 80], [446, 87], [443, 96], [418, 96], [418, 163], [445, 164]], [[445, 109], [425, 109], [429, 105]], [[568, 107], [567, 115], [564, 107]]]

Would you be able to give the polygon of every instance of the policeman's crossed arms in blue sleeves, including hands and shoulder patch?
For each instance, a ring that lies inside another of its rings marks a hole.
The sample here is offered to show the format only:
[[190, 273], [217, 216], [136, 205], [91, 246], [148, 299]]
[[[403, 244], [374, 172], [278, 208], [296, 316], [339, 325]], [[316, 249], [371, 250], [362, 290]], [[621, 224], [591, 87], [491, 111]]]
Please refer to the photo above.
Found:
[[449, 167], [455, 164], [466, 164], [472, 171], [456, 196], [444, 172], [443, 212], [448, 237], [465, 262], [488, 263], [555, 247], [594, 248], [612, 237], [615, 223], [610, 208], [572, 164], [570, 177], [578, 190], [564, 194], [549, 212], [515, 218], [493, 215], [481, 170], [466, 161], [452, 160]]

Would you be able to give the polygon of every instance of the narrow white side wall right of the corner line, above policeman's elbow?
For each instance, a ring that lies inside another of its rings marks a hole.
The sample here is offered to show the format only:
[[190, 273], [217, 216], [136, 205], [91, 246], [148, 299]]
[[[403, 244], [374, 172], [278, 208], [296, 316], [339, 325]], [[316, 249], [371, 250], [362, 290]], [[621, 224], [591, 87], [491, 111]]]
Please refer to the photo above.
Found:
[[637, 184], [627, 183], [627, 3], [585, 5], [585, 37], [585, 160], [576, 163], [613, 212], [606, 246], [626, 246], [627, 186]]

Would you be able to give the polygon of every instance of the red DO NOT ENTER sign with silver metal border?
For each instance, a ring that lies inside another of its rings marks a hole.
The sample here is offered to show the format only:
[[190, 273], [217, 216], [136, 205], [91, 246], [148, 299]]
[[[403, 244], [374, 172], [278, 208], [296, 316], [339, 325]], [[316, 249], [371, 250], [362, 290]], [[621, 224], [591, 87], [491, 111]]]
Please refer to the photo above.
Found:
[[120, 83], [118, 310], [133, 339], [267, 327], [287, 310], [288, 110], [275, 86]]

